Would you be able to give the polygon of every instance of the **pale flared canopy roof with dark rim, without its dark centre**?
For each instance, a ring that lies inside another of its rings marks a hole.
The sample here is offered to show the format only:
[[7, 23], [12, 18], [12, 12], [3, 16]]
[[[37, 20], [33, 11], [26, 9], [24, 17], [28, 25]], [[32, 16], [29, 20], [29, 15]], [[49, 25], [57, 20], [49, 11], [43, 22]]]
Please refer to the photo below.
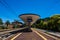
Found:
[[38, 19], [39, 19], [39, 15], [36, 15], [36, 14], [22, 14], [22, 15], [19, 15], [19, 17], [25, 22], [25, 23], [28, 23], [27, 22], [27, 17], [32, 17], [32, 22], [31, 22], [31, 25], [33, 23], [35, 23]]

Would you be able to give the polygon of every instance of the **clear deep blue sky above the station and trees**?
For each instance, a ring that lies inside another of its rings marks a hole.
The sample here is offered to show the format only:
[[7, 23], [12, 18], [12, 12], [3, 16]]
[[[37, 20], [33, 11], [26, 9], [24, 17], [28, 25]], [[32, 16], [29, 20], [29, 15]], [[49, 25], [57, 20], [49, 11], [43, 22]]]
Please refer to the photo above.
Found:
[[0, 18], [3, 21], [21, 21], [18, 15], [24, 13], [35, 13], [41, 18], [60, 14], [60, 0], [0, 0]]

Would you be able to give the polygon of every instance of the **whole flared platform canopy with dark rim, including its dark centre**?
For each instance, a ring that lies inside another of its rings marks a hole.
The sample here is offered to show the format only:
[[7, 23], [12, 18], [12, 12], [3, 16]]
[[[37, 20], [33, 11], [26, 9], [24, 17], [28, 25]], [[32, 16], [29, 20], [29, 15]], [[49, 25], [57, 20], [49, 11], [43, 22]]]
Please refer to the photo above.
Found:
[[19, 17], [26, 23], [31, 22], [31, 25], [35, 23], [39, 19], [39, 15], [37, 14], [21, 14]]

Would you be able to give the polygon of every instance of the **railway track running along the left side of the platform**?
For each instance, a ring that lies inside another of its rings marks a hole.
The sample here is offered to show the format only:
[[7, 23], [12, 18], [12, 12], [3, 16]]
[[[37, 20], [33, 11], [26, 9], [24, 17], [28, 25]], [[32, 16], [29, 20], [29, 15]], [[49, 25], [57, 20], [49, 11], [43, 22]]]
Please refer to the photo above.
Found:
[[27, 27], [24, 28], [19, 28], [19, 29], [15, 29], [15, 30], [10, 30], [10, 31], [5, 31], [5, 32], [1, 32], [0, 33], [0, 40], [5, 40], [7, 37], [14, 35], [18, 32], [21, 32], [23, 30], [25, 30]]

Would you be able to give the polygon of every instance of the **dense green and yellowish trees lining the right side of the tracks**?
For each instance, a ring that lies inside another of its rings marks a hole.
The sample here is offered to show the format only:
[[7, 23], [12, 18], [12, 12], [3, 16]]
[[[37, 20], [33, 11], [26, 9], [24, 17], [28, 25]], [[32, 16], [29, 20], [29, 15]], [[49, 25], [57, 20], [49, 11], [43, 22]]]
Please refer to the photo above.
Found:
[[44, 19], [40, 18], [32, 27], [60, 32], [60, 15], [53, 15]]

